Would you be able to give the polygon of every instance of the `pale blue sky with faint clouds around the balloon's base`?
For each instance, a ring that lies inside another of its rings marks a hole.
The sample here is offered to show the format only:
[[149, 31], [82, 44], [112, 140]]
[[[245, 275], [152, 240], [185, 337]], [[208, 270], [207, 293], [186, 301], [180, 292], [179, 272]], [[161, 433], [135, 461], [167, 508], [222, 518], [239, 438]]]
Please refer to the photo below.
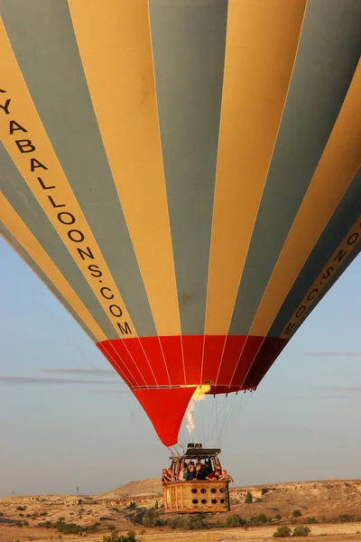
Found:
[[[206, 397], [182, 443], [220, 445], [236, 485], [360, 478], [360, 276], [357, 257], [257, 391]], [[0, 497], [97, 494], [169, 463], [116, 371], [2, 239], [0, 413]]]

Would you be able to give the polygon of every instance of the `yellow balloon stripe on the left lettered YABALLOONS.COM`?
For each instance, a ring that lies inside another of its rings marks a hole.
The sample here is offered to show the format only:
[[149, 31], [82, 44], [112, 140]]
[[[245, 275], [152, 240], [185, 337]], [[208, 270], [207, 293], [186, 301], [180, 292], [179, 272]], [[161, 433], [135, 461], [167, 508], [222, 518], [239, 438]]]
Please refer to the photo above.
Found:
[[0, 51], [0, 135], [3, 144], [117, 334], [124, 338], [136, 337], [122, 296], [42, 126], [1, 21]]

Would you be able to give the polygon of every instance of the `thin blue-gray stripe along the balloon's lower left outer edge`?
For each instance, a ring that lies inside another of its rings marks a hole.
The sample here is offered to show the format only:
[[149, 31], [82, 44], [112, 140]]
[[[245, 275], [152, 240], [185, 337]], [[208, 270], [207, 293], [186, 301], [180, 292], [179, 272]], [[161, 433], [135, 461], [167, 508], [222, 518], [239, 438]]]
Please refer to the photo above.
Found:
[[51, 290], [52, 294], [55, 295], [55, 297], [58, 298], [60, 301], [60, 304], [63, 305], [65, 309], [71, 314], [71, 316], [74, 318], [76, 322], [79, 323], [79, 326], [83, 329], [84, 332], [88, 334], [88, 337], [95, 343], [97, 343], [97, 338], [93, 335], [92, 332], [88, 329], [86, 324], [79, 318], [79, 315], [73, 310], [73, 308], [69, 305], [65, 297], [60, 294], [60, 291], [58, 288], [56, 288], [49, 278], [45, 275], [45, 273], [42, 271], [42, 268], [38, 266], [38, 264], [32, 259], [31, 256], [26, 252], [26, 250], [22, 247], [22, 245], [17, 241], [16, 238], [14, 238], [14, 235], [11, 233], [9, 229], [6, 228], [5, 224], [0, 221], [0, 234], [5, 238], [5, 240], [9, 243], [9, 245], [16, 250], [18, 255], [23, 258], [23, 261], [25, 264], [27, 264], [29, 267], [32, 268], [32, 271], [36, 273], [37, 276], [42, 280], [44, 285], [48, 286], [48, 288]]

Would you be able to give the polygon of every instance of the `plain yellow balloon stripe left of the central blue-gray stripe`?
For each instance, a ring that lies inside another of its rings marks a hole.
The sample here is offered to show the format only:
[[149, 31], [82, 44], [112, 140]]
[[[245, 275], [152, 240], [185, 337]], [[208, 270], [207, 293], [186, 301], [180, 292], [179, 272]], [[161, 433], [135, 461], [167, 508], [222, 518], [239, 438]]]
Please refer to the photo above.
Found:
[[157, 332], [179, 335], [148, 2], [101, 4], [69, 0], [80, 57]]

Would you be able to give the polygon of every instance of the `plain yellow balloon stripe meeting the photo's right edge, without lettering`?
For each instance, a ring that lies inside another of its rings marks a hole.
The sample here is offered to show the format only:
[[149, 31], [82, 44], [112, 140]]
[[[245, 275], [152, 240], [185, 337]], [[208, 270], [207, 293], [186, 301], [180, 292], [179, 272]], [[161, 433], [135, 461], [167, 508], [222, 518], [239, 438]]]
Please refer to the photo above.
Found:
[[250, 334], [266, 335], [271, 328], [302, 266], [355, 176], [361, 157], [360, 96], [361, 61], [274, 267]]

